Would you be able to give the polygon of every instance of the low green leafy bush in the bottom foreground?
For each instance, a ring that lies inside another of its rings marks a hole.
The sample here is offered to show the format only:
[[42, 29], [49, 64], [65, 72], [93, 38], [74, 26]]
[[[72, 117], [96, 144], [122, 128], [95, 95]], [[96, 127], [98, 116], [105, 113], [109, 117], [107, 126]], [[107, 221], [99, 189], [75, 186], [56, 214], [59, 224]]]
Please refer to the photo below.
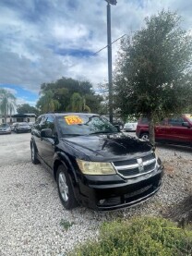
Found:
[[69, 255], [170, 256], [192, 255], [192, 232], [162, 218], [139, 218], [104, 223], [98, 241]]

